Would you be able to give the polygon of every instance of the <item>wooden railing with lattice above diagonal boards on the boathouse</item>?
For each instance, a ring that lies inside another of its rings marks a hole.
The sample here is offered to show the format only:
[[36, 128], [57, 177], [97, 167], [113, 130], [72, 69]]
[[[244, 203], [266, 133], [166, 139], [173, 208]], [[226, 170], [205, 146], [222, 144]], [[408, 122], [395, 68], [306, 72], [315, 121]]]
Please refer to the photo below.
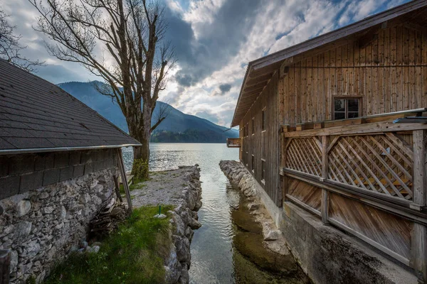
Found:
[[425, 111], [283, 126], [285, 199], [426, 276]]

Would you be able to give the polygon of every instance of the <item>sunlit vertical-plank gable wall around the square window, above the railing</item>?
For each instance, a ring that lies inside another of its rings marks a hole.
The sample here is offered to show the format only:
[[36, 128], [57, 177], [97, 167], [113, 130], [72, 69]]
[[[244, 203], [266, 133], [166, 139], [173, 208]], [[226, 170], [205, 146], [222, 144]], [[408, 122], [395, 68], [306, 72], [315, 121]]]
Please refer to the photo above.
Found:
[[290, 65], [279, 80], [280, 120], [332, 119], [334, 96], [361, 97], [361, 115], [427, 107], [427, 31], [409, 23], [380, 29]]

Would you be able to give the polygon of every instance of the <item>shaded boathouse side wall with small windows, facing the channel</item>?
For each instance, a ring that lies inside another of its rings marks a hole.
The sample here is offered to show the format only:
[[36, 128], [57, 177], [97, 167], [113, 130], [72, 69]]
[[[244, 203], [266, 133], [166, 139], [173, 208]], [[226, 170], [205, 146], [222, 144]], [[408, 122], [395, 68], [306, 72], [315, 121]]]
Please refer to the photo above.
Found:
[[[280, 121], [278, 113], [278, 75], [265, 87], [251, 109], [241, 121], [240, 129], [248, 128], [248, 136], [243, 137], [241, 161], [265, 192], [282, 207], [282, 192], [279, 190], [279, 151], [280, 151]], [[265, 131], [262, 131], [262, 111], [265, 109]], [[254, 123], [254, 133], [252, 124]], [[255, 167], [251, 167], [251, 157], [254, 155]], [[261, 182], [261, 159], [265, 159], [265, 184]], [[253, 172], [252, 172], [253, 170]]]

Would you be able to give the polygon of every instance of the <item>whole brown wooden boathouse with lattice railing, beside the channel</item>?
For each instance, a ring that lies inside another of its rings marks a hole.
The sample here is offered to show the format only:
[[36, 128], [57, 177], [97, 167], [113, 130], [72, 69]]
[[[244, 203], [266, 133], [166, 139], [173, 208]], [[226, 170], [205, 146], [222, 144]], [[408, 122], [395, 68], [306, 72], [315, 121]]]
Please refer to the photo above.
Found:
[[231, 126], [278, 208], [297, 204], [427, 283], [427, 1], [249, 62]]

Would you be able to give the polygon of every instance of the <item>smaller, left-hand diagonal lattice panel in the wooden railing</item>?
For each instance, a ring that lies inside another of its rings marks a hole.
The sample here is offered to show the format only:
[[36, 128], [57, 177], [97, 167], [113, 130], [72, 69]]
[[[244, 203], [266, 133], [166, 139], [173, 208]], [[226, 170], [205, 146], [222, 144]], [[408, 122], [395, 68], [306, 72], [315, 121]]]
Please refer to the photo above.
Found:
[[322, 175], [322, 150], [316, 137], [292, 138], [286, 153], [286, 168], [319, 177]]

